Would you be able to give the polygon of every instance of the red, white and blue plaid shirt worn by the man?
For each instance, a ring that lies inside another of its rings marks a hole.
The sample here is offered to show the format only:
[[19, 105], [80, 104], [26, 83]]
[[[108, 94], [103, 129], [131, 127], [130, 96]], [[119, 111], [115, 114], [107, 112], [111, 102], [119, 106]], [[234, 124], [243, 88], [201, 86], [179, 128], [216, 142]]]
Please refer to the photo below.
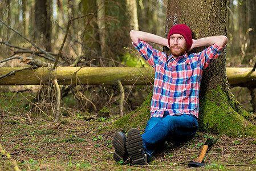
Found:
[[192, 114], [198, 118], [202, 71], [225, 47], [213, 44], [198, 54], [174, 59], [140, 39], [133, 46], [155, 70], [151, 117], [162, 117], [168, 111], [170, 115]]

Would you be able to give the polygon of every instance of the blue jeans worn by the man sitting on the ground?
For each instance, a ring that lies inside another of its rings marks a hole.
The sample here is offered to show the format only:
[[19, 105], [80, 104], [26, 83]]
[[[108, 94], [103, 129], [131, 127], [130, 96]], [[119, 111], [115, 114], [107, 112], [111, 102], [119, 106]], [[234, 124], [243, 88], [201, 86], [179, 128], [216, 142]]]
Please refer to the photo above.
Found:
[[193, 115], [170, 116], [165, 111], [164, 117], [151, 117], [142, 136], [144, 150], [149, 160], [157, 148], [165, 141], [188, 141], [196, 135], [198, 123]]

